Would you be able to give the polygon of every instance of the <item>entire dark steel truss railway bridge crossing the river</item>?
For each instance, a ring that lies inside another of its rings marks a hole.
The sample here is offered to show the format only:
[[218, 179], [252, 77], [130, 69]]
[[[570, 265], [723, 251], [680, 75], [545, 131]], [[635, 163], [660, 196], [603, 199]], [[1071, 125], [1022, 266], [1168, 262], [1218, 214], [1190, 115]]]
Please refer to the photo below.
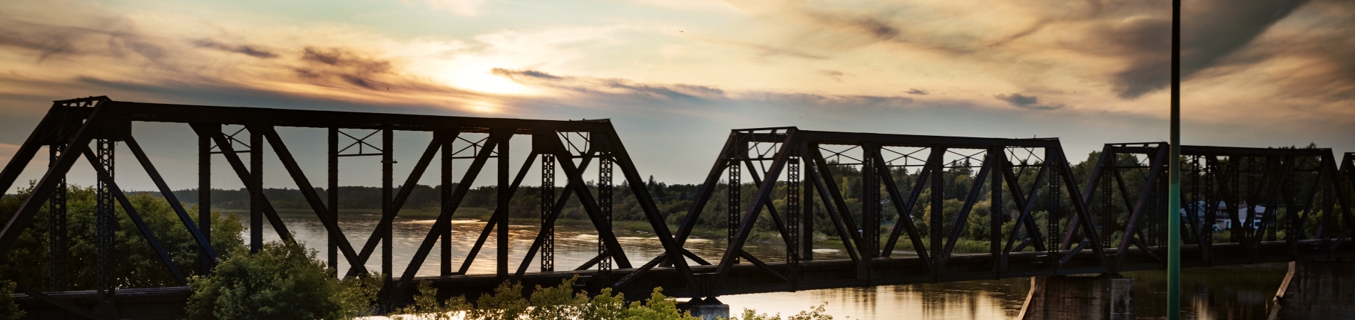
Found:
[[[196, 221], [131, 135], [133, 123], [183, 123], [198, 136], [199, 203]], [[301, 170], [276, 127], [328, 130], [327, 189], [337, 190], [339, 159], [381, 157], [382, 215], [374, 230], [340, 230], [337, 192], [320, 194]], [[393, 134], [425, 132], [424, 147], [402, 188], [393, 177]], [[509, 140], [531, 136], [523, 159], [511, 159]], [[379, 136], [379, 142], [374, 139]], [[340, 143], [343, 140], [343, 143]], [[50, 165], [18, 212], [0, 231], [0, 255], [33, 227], [39, 208], [50, 217], [49, 288], [19, 288], [19, 301], [43, 316], [103, 319], [173, 317], [190, 292], [186, 286], [117, 288], [112, 248], [115, 207], [137, 225], [159, 254], [164, 270], [184, 285], [184, 271], [133, 208], [115, 182], [115, 144], [123, 144], [164, 194], [182, 227], [199, 248], [201, 273], [217, 263], [210, 246], [210, 190], [214, 155], [222, 155], [249, 192], [248, 246], [263, 246], [263, 224], [291, 242], [287, 225], [263, 194], [264, 154], [272, 154], [329, 232], [327, 261], [346, 262], [346, 277], [366, 274], [377, 254], [385, 308], [411, 301], [412, 288], [431, 282], [446, 298], [492, 292], [503, 281], [553, 286], [580, 277], [579, 289], [614, 288], [645, 297], [653, 288], [675, 297], [790, 292], [825, 288], [924, 284], [1034, 275], [1160, 270], [1165, 267], [1165, 143], [1106, 144], [1093, 167], [1070, 166], [1058, 139], [995, 139], [892, 134], [805, 131], [795, 127], [734, 130], [679, 225], [668, 225], [645, 188], [630, 154], [606, 120], [554, 122], [459, 116], [362, 113], [268, 108], [172, 105], [88, 97], [56, 101], [18, 154], [0, 171], [8, 190], [41, 149]], [[248, 161], [245, 159], [248, 157]], [[95, 288], [72, 288], [66, 278], [70, 231], [66, 221], [66, 173], [84, 159], [98, 173]], [[220, 158], [217, 158], [220, 159]], [[454, 161], [470, 161], [459, 178]], [[491, 163], [491, 161], [493, 161]], [[516, 161], [516, 162], [515, 162]], [[1355, 154], [1337, 163], [1329, 149], [1252, 149], [1182, 146], [1182, 266], [1209, 267], [1263, 262], [1351, 258], [1355, 217]], [[392, 221], [419, 178], [436, 163], [443, 188], [442, 209], [406, 266], [392, 262]], [[514, 170], [515, 165], [518, 169]], [[508, 257], [509, 198], [528, 171], [541, 173], [541, 227], [523, 261]], [[596, 193], [584, 181], [598, 173]], [[496, 181], [497, 208], [477, 242], [453, 270], [450, 221], [481, 171]], [[619, 171], [618, 171], [619, 170]], [[977, 171], [976, 171], [977, 170]], [[617, 174], [619, 173], [619, 177]], [[564, 174], [564, 188], [557, 185]], [[947, 176], [967, 176], [953, 185]], [[1083, 174], [1085, 177], [1077, 177]], [[623, 180], [654, 231], [663, 252], [629, 261], [611, 227], [614, 186]], [[850, 178], [850, 180], [844, 180]], [[1080, 180], [1085, 178], [1085, 180]], [[847, 185], [846, 181], [856, 181]], [[748, 184], [752, 182], [752, 184]], [[720, 185], [747, 188], [720, 188]], [[752, 192], [751, 194], [744, 194]], [[946, 194], [961, 198], [944, 212]], [[986, 200], [981, 196], [988, 193]], [[848, 201], [854, 194], [856, 201]], [[554, 223], [575, 200], [598, 231], [598, 254], [580, 266], [554, 263]], [[725, 203], [726, 211], [709, 205]], [[986, 212], [976, 208], [988, 208]], [[728, 219], [728, 246], [721, 257], [684, 248], [703, 215]], [[755, 224], [772, 224], [785, 257], [757, 257], [744, 250]], [[850, 259], [814, 259], [816, 223], [829, 223]], [[986, 225], [984, 225], [986, 224]], [[1230, 225], [1226, 239], [1215, 224]], [[878, 225], [878, 227], [874, 227]], [[671, 228], [675, 227], [675, 228]], [[673, 231], [671, 231], [673, 230]], [[369, 234], [350, 243], [347, 234]], [[1127, 235], [1127, 236], [1125, 236]], [[469, 266], [493, 238], [493, 274], [470, 274]], [[977, 240], [982, 239], [982, 240]], [[970, 243], [970, 250], [957, 246]], [[973, 250], [985, 243], [986, 250]], [[440, 250], [438, 277], [416, 277], [430, 252]], [[37, 252], [35, 252], [37, 254]], [[533, 262], [537, 261], [533, 267]], [[42, 263], [42, 262], [39, 262]], [[401, 269], [397, 269], [401, 267]], [[534, 269], [534, 270], [533, 270]], [[398, 275], [398, 277], [397, 277]]]

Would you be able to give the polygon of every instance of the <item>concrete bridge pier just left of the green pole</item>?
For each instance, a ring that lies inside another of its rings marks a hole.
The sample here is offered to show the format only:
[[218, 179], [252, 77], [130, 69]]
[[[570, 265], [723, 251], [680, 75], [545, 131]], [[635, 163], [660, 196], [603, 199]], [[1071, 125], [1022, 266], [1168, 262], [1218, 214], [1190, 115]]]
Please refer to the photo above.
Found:
[[1131, 320], [1134, 279], [1119, 274], [1031, 277], [1030, 296], [1026, 296], [1018, 319]]

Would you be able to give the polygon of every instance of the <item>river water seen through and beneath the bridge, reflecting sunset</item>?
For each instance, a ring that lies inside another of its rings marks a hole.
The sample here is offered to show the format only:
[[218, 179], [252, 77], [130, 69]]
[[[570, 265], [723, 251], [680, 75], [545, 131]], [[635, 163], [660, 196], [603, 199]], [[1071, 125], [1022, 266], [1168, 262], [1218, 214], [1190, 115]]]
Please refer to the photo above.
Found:
[[[280, 213], [287, 228], [297, 240], [316, 248], [324, 257], [324, 225], [308, 213]], [[366, 242], [375, 228], [378, 215], [343, 215], [340, 228], [348, 236], [355, 250]], [[393, 262], [396, 274], [401, 274], [419, 244], [432, 227], [431, 219], [396, 219], [393, 225]], [[453, 223], [453, 270], [461, 267], [470, 247], [474, 244], [485, 223], [478, 220], [457, 220]], [[264, 227], [266, 240], [278, 240], [278, 235]], [[528, 246], [537, 236], [538, 225], [509, 225], [509, 270], [516, 270]], [[598, 236], [591, 227], [560, 225], [556, 228], [556, 269], [573, 269], [598, 254]], [[248, 236], [248, 231], [245, 231]], [[617, 231], [617, 236], [633, 265], [641, 265], [661, 252], [659, 240], [646, 232]], [[480, 255], [470, 266], [470, 274], [495, 273], [495, 236], [491, 235]], [[715, 261], [724, 252], [724, 240], [690, 239], [688, 250]], [[780, 246], [774, 243], [749, 243], [745, 248], [753, 255], [767, 257], [766, 261], [779, 261], [785, 257]], [[379, 248], [367, 262], [369, 270], [381, 270]], [[840, 248], [817, 247], [816, 259], [846, 259]], [[432, 250], [419, 275], [436, 275], [440, 257]], [[531, 270], [539, 270], [533, 261]], [[1257, 265], [1233, 267], [1207, 267], [1182, 270], [1182, 311], [1184, 319], [1263, 319], [1271, 297], [1285, 278], [1286, 265]], [[347, 262], [340, 258], [339, 270], [347, 270]], [[1123, 275], [1134, 279], [1134, 308], [1138, 319], [1165, 319], [1164, 271], [1131, 271]], [[759, 293], [720, 297], [730, 305], [732, 313], [744, 308], [759, 313], [780, 313], [790, 316], [820, 304], [835, 319], [1014, 319], [1020, 312], [1022, 302], [1030, 290], [1028, 278], [985, 279], [946, 284], [893, 285], [874, 288], [843, 288], [804, 290], [789, 293]]]

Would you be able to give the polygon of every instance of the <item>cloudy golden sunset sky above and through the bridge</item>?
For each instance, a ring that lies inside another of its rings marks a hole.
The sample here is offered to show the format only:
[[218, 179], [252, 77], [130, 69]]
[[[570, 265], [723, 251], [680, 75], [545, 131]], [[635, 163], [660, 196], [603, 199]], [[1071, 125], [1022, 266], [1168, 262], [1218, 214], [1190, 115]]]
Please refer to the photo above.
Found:
[[[1355, 151], [1355, 1], [1184, 3], [1186, 144]], [[51, 100], [85, 96], [611, 119], [640, 171], [676, 184], [751, 127], [1057, 136], [1077, 161], [1168, 138], [1169, 30], [1169, 0], [7, 0], [0, 161]], [[136, 127], [176, 189], [195, 186], [191, 132]], [[282, 134], [322, 151], [322, 132]], [[397, 134], [397, 170], [427, 140]], [[375, 167], [341, 180], [378, 185]]]

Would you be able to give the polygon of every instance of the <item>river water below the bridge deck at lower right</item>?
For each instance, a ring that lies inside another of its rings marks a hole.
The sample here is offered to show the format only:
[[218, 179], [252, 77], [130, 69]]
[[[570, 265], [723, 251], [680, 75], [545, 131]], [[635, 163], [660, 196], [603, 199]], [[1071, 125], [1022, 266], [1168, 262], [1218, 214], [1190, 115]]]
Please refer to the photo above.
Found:
[[[1183, 319], [1264, 319], [1287, 265], [1194, 267], [1182, 270]], [[1127, 271], [1134, 279], [1138, 319], [1167, 317], [1167, 273]], [[841, 288], [720, 297], [730, 312], [743, 308], [782, 316], [827, 302], [835, 319], [1016, 319], [1030, 279]]]

